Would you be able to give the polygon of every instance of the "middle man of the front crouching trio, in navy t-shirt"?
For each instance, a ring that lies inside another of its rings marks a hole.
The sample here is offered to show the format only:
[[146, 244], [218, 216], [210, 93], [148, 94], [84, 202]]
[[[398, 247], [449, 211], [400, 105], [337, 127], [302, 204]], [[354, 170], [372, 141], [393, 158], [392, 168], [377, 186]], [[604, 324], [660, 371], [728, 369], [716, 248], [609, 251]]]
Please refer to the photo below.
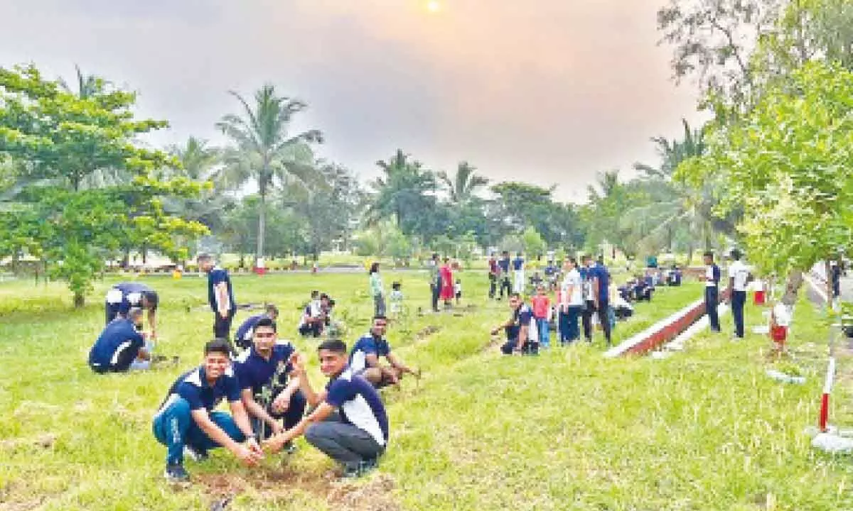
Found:
[[299, 422], [305, 413], [305, 397], [299, 392], [299, 378], [288, 381], [287, 375], [293, 370], [289, 361], [295, 350], [290, 342], [278, 342], [272, 319], [258, 321], [252, 342], [252, 347], [237, 357], [234, 370], [252, 429], [258, 438], [265, 439]]

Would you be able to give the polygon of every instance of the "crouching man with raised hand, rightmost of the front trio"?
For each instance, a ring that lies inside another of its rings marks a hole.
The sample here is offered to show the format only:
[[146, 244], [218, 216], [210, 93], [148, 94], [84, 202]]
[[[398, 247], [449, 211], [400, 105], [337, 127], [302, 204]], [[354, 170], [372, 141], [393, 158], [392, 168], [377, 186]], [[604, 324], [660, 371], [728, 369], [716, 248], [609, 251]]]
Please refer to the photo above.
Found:
[[316, 406], [295, 427], [267, 442], [279, 451], [288, 442], [305, 434], [310, 445], [343, 465], [346, 477], [358, 477], [376, 467], [388, 445], [388, 416], [379, 393], [362, 376], [346, 367], [346, 344], [333, 340], [317, 347], [320, 370], [329, 377], [322, 392], [311, 388], [305, 375], [305, 361], [291, 359], [293, 377], [311, 406]]

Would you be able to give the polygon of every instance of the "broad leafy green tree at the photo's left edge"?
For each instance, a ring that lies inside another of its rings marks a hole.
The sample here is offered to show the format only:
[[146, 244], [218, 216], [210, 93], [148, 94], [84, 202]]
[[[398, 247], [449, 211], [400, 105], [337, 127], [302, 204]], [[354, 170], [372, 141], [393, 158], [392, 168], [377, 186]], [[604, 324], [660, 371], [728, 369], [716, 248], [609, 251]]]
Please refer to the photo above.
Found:
[[[0, 212], [0, 232], [17, 240], [13, 250], [42, 257], [49, 273], [66, 280], [76, 306], [122, 240], [177, 255], [174, 236], [206, 230], [163, 212], [160, 198], [191, 195], [198, 187], [150, 177], [177, 163], [136, 145], [138, 135], [166, 123], [137, 120], [135, 101], [101, 78], [87, 79], [85, 94], [75, 94], [42, 78], [35, 66], [0, 68], [0, 153], [20, 163], [15, 180], [23, 183], [9, 192], [17, 208]], [[105, 169], [125, 181], [85, 186]]]

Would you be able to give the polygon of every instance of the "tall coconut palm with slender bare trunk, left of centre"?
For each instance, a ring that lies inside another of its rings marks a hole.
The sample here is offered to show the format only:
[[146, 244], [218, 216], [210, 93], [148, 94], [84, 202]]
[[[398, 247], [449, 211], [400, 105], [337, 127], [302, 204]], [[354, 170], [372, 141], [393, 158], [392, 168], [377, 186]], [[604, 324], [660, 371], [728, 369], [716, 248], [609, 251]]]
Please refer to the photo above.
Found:
[[234, 142], [223, 154], [223, 171], [218, 180], [224, 187], [239, 188], [248, 181], [258, 186], [258, 247], [256, 258], [264, 257], [266, 198], [270, 188], [285, 178], [310, 180], [314, 172], [314, 154], [310, 144], [322, 143], [322, 133], [310, 129], [299, 135], [289, 135], [293, 116], [307, 106], [276, 94], [273, 85], [266, 84], [254, 95], [254, 103], [231, 91], [240, 102], [241, 115], [226, 115], [217, 123], [218, 129]]

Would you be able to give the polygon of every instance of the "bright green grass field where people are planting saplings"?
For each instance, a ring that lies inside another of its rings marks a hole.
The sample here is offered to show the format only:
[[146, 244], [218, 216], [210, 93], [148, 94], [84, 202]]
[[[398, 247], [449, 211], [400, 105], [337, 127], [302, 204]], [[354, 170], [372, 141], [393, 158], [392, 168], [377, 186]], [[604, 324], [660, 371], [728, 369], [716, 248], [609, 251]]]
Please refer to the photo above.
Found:
[[[150, 420], [174, 377], [200, 361], [212, 320], [205, 281], [149, 278], [162, 303], [158, 351], [182, 362], [121, 376], [85, 365], [109, 283], [78, 311], [58, 284], [0, 284], [0, 511], [207, 509], [232, 494], [229, 510], [853, 508], [850, 459], [816, 454], [803, 433], [817, 417], [826, 339], [807, 303], [792, 350], [808, 382], [783, 386], [763, 374], [763, 336], [703, 334], [664, 360], [604, 359], [600, 335], [592, 347], [504, 358], [486, 332], [506, 305], [485, 302], [483, 273], [463, 275], [463, 305], [474, 308], [461, 317], [417, 315], [425, 276], [385, 274], [392, 279], [403, 282], [410, 313], [389, 339], [424, 378], [384, 394], [392, 440], [380, 470], [336, 482], [332, 463], [299, 440], [287, 462], [268, 456], [253, 470], [219, 451], [188, 462], [189, 489], [163, 481], [165, 448]], [[280, 306], [281, 336], [294, 330], [311, 289], [338, 301], [347, 342], [363, 333], [372, 309], [366, 275], [235, 278], [239, 301]], [[618, 325], [616, 340], [700, 293], [698, 284], [662, 290]], [[747, 321], [760, 322], [759, 310], [748, 307]], [[294, 342], [320, 382], [315, 342]], [[851, 416], [845, 399], [835, 402], [833, 416]]]

